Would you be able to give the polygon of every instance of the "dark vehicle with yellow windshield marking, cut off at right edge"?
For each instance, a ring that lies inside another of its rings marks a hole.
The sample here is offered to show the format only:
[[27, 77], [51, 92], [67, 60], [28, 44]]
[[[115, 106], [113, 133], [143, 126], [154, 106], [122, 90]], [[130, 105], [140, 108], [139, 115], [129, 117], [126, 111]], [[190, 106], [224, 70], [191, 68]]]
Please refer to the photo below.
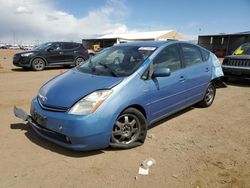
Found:
[[226, 56], [222, 69], [226, 80], [229, 77], [250, 78], [250, 43], [242, 44], [233, 55]]

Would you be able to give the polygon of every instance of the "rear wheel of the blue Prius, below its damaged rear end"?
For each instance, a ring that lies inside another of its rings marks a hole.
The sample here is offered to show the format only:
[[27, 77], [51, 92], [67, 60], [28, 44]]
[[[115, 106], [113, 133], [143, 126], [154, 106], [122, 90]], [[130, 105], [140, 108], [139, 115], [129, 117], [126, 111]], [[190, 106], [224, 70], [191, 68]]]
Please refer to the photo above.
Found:
[[199, 102], [199, 105], [203, 108], [207, 108], [212, 105], [216, 94], [216, 87], [213, 83], [209, 83], [206, 93], [202, 101]]

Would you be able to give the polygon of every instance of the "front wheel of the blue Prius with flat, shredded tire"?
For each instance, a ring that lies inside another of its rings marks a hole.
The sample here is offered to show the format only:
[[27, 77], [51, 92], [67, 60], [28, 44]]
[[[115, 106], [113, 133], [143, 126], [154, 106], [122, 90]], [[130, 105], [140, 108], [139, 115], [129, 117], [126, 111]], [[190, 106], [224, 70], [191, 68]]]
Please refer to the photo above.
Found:
[[135, 108], [123, 111], [112, 129], [110, 146], [129, 149], [142, 145], [147, 135], [147, 122], [144, 115]]

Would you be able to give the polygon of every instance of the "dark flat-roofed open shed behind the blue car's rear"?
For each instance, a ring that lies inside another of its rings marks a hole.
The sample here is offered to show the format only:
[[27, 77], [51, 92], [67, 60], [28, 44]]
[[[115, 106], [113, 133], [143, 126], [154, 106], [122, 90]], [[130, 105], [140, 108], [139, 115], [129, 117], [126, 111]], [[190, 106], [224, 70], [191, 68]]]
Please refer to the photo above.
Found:
[[217, 34], [217, 35], [200, 35], [198, 44], [218, 57], [231, 55], [241, 44], [250, 42], [250, 31], [233, 33], [233, 34]]

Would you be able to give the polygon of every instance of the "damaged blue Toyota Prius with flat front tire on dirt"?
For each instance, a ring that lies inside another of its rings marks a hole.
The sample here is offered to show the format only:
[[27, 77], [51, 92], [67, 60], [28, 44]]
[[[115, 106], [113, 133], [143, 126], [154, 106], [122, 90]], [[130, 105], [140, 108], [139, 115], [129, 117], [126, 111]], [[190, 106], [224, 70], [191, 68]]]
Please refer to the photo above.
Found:
[[213, 103], [212, 55], [180, 41], [119, 44], [46, 82], [30, 115], [16, 107], [14, 113], [41, 137], [73, 150], [135, 147], [150, 124]]

